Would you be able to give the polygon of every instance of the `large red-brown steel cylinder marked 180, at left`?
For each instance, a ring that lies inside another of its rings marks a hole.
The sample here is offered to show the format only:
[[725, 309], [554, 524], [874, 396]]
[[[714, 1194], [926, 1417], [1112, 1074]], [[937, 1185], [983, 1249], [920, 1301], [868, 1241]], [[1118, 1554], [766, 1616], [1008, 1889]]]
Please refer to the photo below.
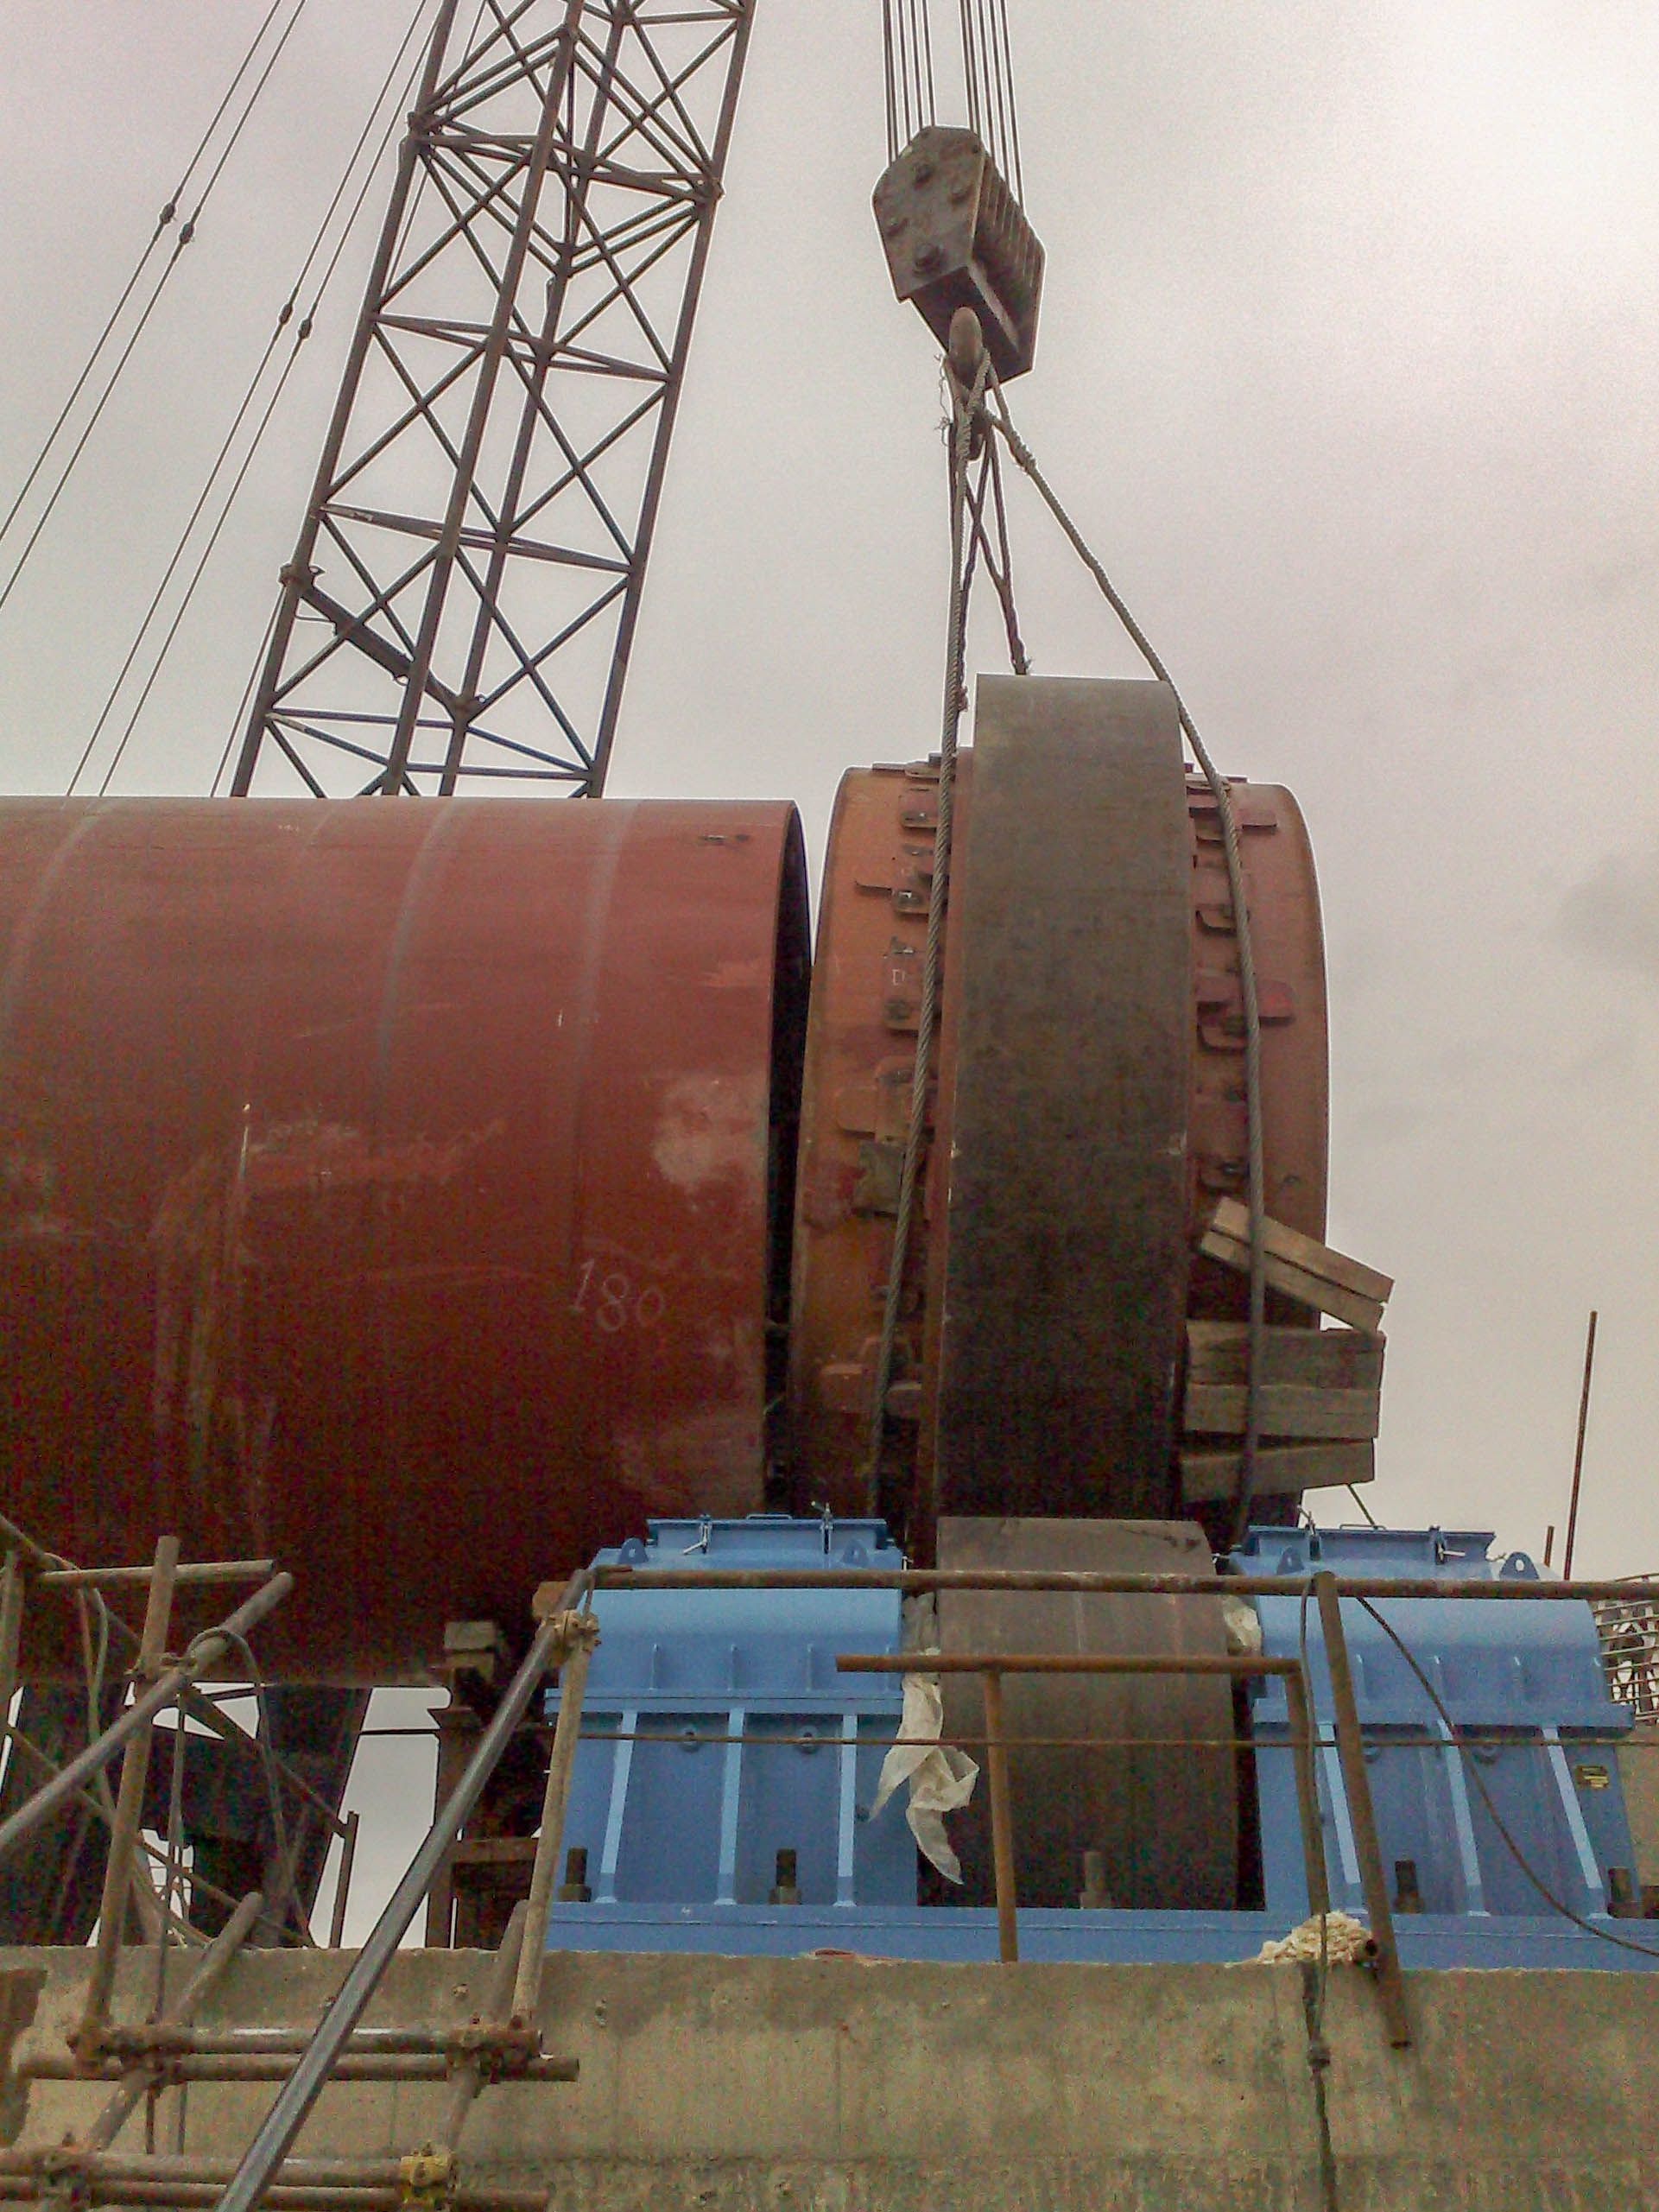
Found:
[[805, 958], [787, 805], [0, 803], [4, 1509], [367, 1681], [759, 1506]]

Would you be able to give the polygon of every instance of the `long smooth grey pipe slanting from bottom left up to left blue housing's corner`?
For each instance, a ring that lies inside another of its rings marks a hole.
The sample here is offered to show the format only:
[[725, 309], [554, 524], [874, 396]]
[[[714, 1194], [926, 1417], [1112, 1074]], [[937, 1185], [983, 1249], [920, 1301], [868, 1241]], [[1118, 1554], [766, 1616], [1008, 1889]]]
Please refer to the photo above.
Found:
[[392, 1900], [374, 1922], [369, 1940], [363, 1944], [352, 1962], [352, 1969], [341, 1982], [310, 2048], [288, 2077], [281, 2095], [243, 2152], [230, 2188], [223, 2194], [221, 2212], [252, 2212], [265, 2194], [265, 2188], [276, 2179], [276, 2168], [283, 2163], [294, 2137], [305, 2126], [305, 2115], [316, 2104], [323, 2084], [334, 2070], [334, 2059], [341, 2055], [352, 2028], [356, 2028], [363, 2017], [365, 2004], [380, 1986], [380, 1978], [403, 1942], [403, 1933], [414, 1920], [431, 1878], [442, 1867], [462, 1825], [484, 1794], [484, 1785], [495, 1772], [502, 1752], [524, 1717], [524, 1708], [535, 1697], [553, 1655], [560, 1648], [560, 1621], [542, 1621], [529, 1652], [524, 1655], [524, 1663], [491, 1714], [487, 1728], [478, 1736], [473, 1756], [467, 1761], [467, 1770], [456, 1783], [453, 1796], [427, 1829], [420, 1849], [409, 1860], [398, 1887], [392, 1891]]

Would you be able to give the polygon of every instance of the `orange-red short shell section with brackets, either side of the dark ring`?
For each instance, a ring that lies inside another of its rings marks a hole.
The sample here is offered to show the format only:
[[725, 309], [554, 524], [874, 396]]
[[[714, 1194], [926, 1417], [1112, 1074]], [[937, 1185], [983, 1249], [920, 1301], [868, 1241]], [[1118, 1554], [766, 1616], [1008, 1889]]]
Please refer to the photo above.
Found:
[[[1327, 1024], [1314, 856], [1301, 810], [1279, 785], [1232, 785], [1256, 958], [1267, 1212], [1325, 1232]], [[1214, 796], [1186, 779], [1192, 964], [1188, 1095], [1188, 1228], [1248, 1177], [1239, 940]], [[796, 1504], [858, 1511], [867, 1491], [869, 1394], [891, 1256], [891, 1201], [914, 1073], [920, 947], [927, 931], [938, 774], [854, 770], [830, 830], [803, 1095], [801, 1183], [790, 1356]], [[958, 759], [956, 852], [973, 838], [973, 754]], [[1102, 865], [1110, 856], [1102, 854]], [[911, 1239], [883, 1502], [918, 1555], [936, 1436], [938, 1321], [949, 1239], [956, 1033], [962, 998], [960, 916], [947, 909], [945, 989], [929, 1106], [925, 1206]], [[1194, 1261], [1192, 1318], [1243, 1318], [1243, 1279]], [[1274, 1321], [1305, 1314], [1274, 1301]], [[1172, 1482], [1179, 1478], [1172, 1471]], [[1055, 1500], [1055, 1511], [1066, 1511]]]

